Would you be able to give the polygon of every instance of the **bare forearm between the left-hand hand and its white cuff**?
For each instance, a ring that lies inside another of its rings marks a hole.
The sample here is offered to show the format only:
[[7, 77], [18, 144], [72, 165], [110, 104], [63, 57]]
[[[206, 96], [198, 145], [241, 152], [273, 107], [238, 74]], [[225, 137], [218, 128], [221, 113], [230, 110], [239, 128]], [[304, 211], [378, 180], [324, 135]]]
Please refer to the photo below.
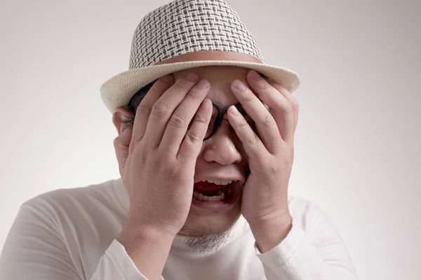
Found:
[[140, 273], [149, 280], [161, 279], [174, 237], [159, 230], [137, 228], [126, 223], [117, 240]]

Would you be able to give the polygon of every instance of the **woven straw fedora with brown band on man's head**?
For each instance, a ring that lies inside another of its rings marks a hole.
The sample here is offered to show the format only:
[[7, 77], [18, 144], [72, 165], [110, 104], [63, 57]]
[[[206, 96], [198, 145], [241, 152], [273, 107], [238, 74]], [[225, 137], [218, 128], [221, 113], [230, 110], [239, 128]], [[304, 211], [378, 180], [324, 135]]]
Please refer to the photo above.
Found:
[[[214, 55], [198, 60], [203, 51]], [[190, 60], [193, 52], [196, 55]], [[129, 70], [107, 80], [100, 87], [101, 98], [114, 113], [116, 107], [127, 106], [138, 90], [162, 76], [218, 65], [254, 69], [290, 92], [300, 85], [294, 71], [263, 62], [258, 44], [227, 1], [175, 0], [141, 20], [133, 36]]]

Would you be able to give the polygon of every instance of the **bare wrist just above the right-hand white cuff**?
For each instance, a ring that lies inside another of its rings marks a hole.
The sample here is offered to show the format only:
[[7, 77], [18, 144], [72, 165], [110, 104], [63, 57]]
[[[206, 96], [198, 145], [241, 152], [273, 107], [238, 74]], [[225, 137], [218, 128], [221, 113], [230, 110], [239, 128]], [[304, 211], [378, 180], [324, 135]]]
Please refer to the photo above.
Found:
[[290, 214], [250, 224], [260, 253], [267, 253], [286, 239], [293, 227]]

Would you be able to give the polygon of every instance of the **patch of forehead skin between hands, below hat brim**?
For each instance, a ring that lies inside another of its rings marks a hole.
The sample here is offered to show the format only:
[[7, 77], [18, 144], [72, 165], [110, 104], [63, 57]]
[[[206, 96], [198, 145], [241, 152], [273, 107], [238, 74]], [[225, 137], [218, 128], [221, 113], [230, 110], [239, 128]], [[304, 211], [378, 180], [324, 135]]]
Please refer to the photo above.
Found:
[[250, 69], [237, 66], [203, 66], [186, 69], [173, 73], [174, 79], [178, 80], [188, 73], [197, 73], [200, 79], [206, 79], [210, 83], [210, 91], [207, 98], [222, 106], [238, 103], [231, 90], [233, 80], [241, 80], [249, 88], [246, 74]]

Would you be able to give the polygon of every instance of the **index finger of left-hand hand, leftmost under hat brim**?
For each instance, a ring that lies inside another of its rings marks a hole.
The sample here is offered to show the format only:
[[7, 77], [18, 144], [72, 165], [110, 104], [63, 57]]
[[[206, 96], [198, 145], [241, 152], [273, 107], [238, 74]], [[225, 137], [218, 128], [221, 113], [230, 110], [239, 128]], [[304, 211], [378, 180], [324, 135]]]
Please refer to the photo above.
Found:
[[163, 92], [166, 92], [174, 83], [174, 78], [171, 75], [163, 76], [152, 85], [151, 89], [145, 95], [145, 98], [140, 102], [138, 109], [136, 109], [135, 122], [133, 123], [132, 142], [138, 143], [145, 135], [147, 121], [152, 111], [152, 107], [156, 101], [161, 97]]

